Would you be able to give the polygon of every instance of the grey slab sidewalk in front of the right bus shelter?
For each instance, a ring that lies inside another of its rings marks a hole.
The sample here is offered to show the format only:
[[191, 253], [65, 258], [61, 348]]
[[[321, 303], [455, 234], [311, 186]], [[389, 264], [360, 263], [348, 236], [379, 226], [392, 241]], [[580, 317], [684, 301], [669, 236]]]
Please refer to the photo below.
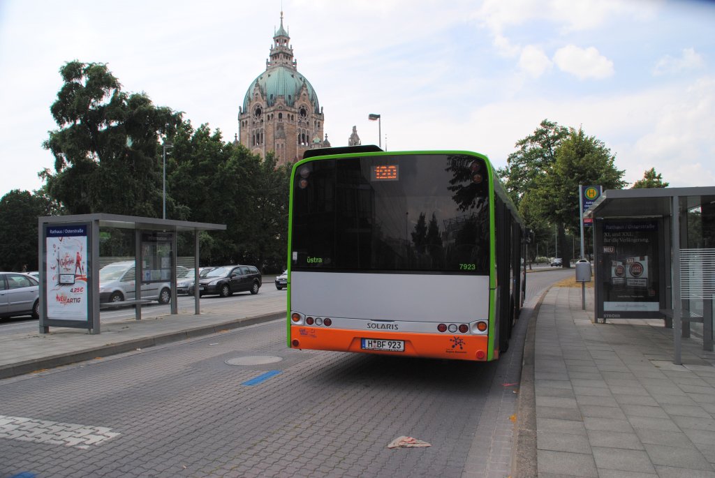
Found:
[[662, 320], [593, 324], [593, 289], [586, 309], [556, 287], [538, 311], [538, 476], [715, 477], [715, 353], [684, 339], [674, 365]]

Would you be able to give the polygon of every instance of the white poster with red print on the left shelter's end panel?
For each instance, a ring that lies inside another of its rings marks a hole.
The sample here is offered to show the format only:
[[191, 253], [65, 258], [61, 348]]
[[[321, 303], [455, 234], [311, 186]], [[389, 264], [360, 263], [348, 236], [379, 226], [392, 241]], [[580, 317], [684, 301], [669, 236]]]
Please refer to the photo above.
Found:
[[47, 318], [87, 320], [87, 226], [48, 226]]

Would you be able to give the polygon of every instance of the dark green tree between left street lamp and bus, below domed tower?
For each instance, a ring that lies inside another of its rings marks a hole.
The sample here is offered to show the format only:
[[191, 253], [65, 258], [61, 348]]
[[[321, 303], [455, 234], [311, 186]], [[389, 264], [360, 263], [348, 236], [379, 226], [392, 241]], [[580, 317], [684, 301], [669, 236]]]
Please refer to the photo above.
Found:
[[283, 269], [287, 257], [290, 166], [276, 166], [271, 152], [261, 161], [245, 146], [224, 142], [202, 124], [179, 126], [168, 161], [169, 211], [192, 221], [226, 224], [202, 242], [208, 264], [255, 264]]

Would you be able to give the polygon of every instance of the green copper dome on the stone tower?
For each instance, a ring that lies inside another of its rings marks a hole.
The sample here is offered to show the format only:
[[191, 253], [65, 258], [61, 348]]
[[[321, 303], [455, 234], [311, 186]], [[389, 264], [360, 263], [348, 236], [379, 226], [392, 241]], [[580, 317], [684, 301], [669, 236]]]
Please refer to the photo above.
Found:
[[300, 89], [303, 84], [308, 91], [308, 99], [315, 106], [314, 113], [320, 114], [320, 105], [317, 101], [317, 94], [313, 89], [310, 81], [305, 79], [305, 76], [287, 66], [275, 66], [267, 71], [264, 71], [260, 76], [251, 82], [251, 86], [246, 91], [246, 96], [243, 99], [243, 111], [248, 111], [253, 89], [256, 83], [266, 99], [266, 106], [270, 107], [275, 104], [278, 96], [285, 98], [287, 106], [295, 106], [295, 99], [300, 95]]

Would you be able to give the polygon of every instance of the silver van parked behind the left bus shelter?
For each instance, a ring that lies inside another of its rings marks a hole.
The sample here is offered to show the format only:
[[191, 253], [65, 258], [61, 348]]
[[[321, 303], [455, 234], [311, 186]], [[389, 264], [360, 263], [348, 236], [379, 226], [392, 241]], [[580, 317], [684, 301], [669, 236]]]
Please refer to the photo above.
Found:
[[[123, 302], [137, 298], [134, 261], [113, 262], [99, 269], [99, 302]], [[170, 282], [142, 282], [142, 299], [169, 304]]]

